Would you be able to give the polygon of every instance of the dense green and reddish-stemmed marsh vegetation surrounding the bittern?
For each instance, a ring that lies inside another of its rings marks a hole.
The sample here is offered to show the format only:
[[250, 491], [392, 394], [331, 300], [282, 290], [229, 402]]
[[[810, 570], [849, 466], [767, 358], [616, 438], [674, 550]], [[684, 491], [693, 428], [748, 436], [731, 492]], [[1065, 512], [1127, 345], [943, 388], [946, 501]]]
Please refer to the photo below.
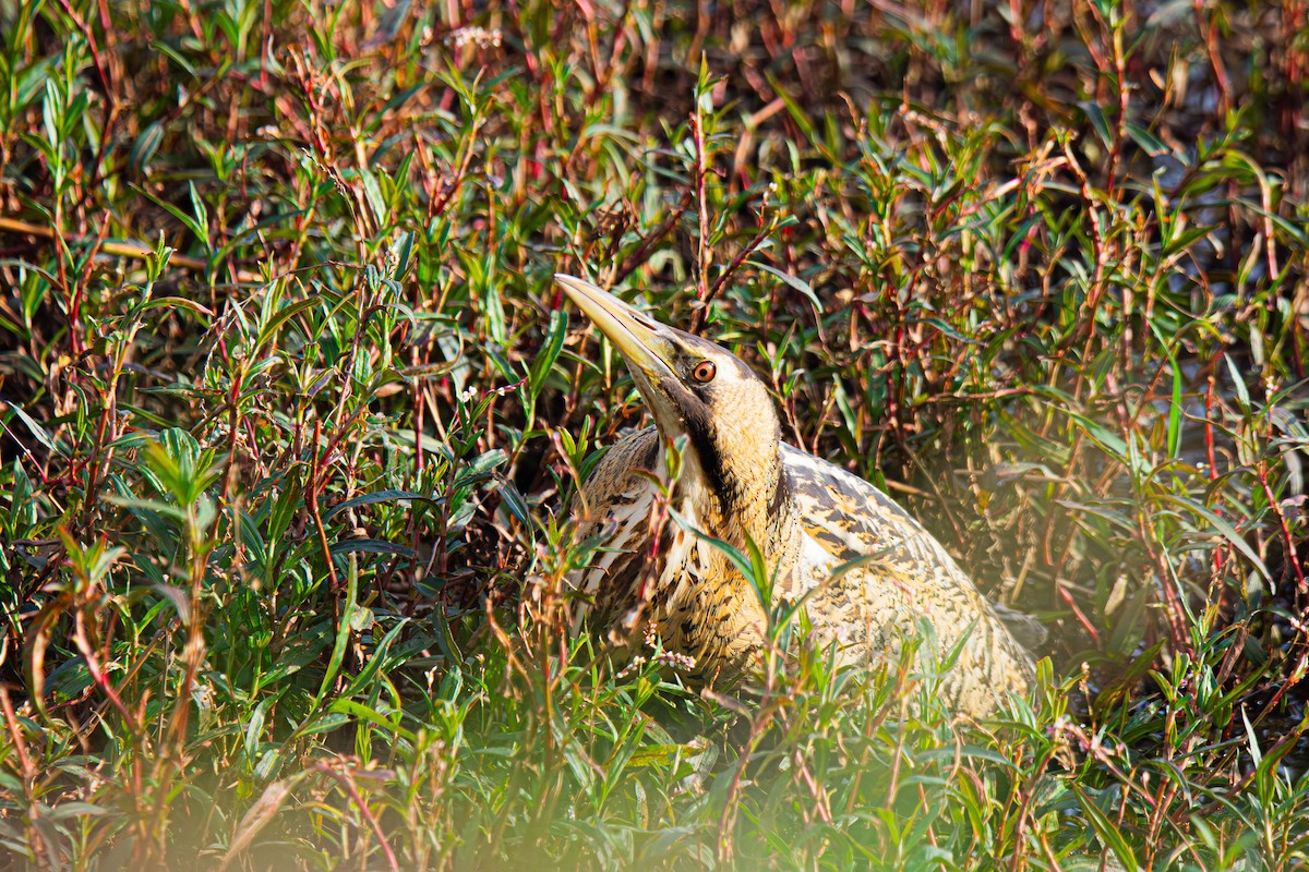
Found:
[[[1304, 0], [0, 0], [0, 856], [1309, 860]], [[643, 408], [555, 271], [1035, 614], [1035, 698], [572, 639], [568, 499]]]

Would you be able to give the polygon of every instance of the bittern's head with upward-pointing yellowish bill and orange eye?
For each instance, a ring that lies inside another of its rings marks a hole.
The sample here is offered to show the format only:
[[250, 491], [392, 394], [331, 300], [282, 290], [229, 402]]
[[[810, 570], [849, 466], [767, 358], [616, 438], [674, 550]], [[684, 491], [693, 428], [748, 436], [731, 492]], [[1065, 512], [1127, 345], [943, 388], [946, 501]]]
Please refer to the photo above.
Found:
[[763, 380], [721, 345], [661, 324], [589, 281], [555, 281], [623, 356], [664, 438], [686, 437], [687, 472], [703, 476], [721, 507], [771, 501], [781, 426]]

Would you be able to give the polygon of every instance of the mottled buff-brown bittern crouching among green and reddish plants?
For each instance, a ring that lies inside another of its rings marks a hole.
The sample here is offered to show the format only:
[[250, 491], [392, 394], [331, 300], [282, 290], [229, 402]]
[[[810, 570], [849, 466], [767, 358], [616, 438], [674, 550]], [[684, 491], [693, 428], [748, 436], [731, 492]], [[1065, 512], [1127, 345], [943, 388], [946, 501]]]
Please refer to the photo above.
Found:
[[[741, 358], [590, 281], [555, 281], [623, 357], [653, 417], [603, 454], [575, 499], [581, 535], [605, 543], [571, 578], [579, 629], [628, 647], [653, 635], [690, 676], [726, 682], [761, 668], [768, 611], [801, 603], [809, 638], [842, 665], [895, 664], [915, 638], [919, 655], [946, 660], [958, 646], [937, 692], [957, 714], [986, 718], [1029, 690], [1031, 654], [945, 546], [872, 484], [783, 442], [772, 395]], [[713, 540], [755, 545], [772, 603]]]

